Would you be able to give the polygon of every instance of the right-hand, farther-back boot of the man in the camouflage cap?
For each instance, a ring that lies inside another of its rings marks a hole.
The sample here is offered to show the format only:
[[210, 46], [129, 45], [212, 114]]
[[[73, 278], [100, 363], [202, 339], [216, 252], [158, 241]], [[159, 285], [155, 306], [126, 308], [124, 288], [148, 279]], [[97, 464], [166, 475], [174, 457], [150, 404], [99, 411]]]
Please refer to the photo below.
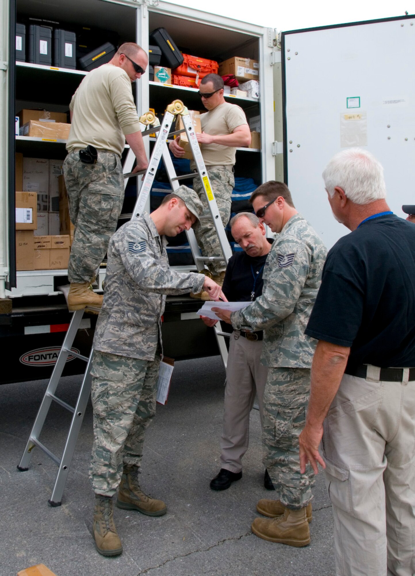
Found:
[[118, 489], [118, 508], [138, 510], [147, 516], [163, 516], [167, 506], [162, 500], [150, 498], [144, 494], [139, 484], [139, 469], [136, 466], [125, 466]]

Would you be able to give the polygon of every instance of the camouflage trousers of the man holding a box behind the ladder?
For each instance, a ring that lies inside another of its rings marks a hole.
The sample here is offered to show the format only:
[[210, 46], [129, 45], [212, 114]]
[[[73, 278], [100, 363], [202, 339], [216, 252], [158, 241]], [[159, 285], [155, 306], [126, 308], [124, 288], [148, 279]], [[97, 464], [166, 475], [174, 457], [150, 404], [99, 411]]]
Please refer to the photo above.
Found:
[[[222, 224], [224, 227], [228, 224], [230, 218], [230, 206], [232, 204], [232, 190], [235, 186], [235, 178], [233, 177], [232, 166], [208, 166], [208, 176], [210, 185], [212, 186], [213, 194], [221, 215]], [[202, 217], [209, 217], [209, 220], [202, 220], [201, 226], [196, 230], [195, 235], [202, 256], [222, 256], [221, 245], [213, 225], [212, 217], [208, 207], [208, 200], [203, 190], [202, 183], [197, 177], [194, 180], [194, 190], [197, 192], [203, 204]], [[226, 270], [225, 262], [206, 262], [206, 266], [213, 272], [214, 275], [220, 274]]]

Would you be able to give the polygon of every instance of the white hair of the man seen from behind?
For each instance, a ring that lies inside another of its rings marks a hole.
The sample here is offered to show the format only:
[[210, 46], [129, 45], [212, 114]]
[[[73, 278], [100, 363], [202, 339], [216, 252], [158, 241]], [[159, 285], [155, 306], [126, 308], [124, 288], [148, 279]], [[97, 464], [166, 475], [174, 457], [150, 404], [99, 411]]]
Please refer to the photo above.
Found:
[[370, 152], [361, 148], [349, 148], [333, 156], [322, 176], [331, 198], [336, 186], [355, 204], [386, 198], [383, 167]]

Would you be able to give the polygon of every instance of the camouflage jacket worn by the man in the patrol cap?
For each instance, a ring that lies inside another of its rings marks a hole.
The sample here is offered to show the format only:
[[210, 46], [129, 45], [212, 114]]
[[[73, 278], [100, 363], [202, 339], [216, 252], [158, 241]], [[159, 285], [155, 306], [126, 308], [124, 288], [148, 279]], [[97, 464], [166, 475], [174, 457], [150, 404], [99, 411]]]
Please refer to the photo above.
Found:
[[111, 238], [95, 350], [153, 361], [162, 340], [166, 294], [202, 290], [203, 275], [169, 269], [166, 244], [147, 213]]

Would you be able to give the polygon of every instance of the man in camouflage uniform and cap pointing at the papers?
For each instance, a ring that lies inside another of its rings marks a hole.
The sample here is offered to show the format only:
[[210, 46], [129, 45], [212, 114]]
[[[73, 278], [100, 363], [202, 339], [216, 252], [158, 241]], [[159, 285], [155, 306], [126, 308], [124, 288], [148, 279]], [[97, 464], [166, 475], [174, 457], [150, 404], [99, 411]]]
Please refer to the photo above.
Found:
[[118, 487], [117, 506], [122, 509], [148, 516], [167, 511], [164, 502], [144, 494], [139, 484], [144, 431], [155, 415], [166, 294], [205, 289], [213, 300], [224, 295], [208, 276], [170, 270], [163, 235], [197, 228], [201, 214], [197, 194], [180, 186], [151, 214], [144, 212], [121, 226], [109, 243], [91, 369], [93, 535], [95, 547], [104, 556], [122, 552], [113, 521], [112, 497]]

